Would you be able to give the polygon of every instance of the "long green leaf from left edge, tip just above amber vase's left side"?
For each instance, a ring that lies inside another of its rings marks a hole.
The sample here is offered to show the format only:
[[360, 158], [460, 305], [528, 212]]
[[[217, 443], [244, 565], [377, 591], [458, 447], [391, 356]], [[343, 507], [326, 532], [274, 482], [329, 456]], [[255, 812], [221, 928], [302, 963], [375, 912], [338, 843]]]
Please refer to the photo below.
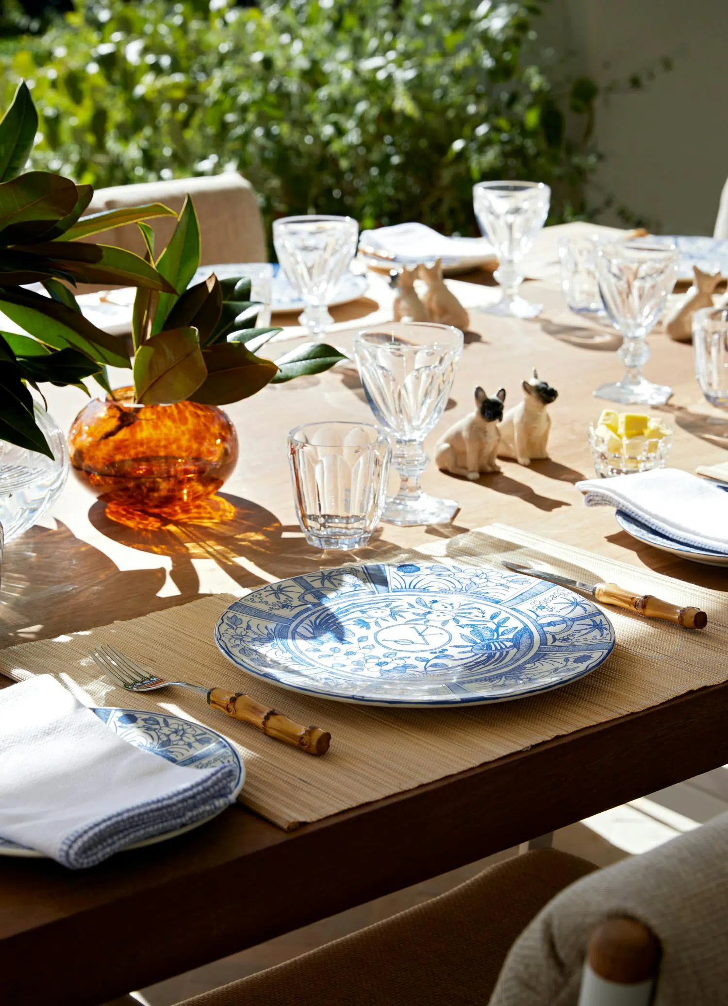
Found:
[[0, 289], [0, 310], [46, 346], [74, 346], [97, 363], [129, 367], [124, 342], [103, 332], [82, 314], [31, 290]]

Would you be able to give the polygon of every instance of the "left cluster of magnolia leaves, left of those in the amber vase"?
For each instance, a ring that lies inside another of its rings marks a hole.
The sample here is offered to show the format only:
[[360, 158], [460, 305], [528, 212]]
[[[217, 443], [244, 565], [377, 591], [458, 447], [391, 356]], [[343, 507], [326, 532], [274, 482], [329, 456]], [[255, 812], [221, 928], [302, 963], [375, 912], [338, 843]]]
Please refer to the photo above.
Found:
[[[80, 219], [94, 194], [90, 185], [44, 171], [21, 174], [37, 123], [30, 93], [21, 83], [0, 121], [0, 310], [35, 338], [0, 332], [0, 440], [52, 457], [35, 423], [27, 384], [72, 384], [95, 376], [108, 387], [106, 366], [129, 366], [119, 340], [83, 317], [60, 281], [131, 284], [165, 297], [174, 293], [139, 256], [73, 238], [174, 213], [156, 203]], [[24, 288], [33, 283], [41, 283], [48, 296]]]

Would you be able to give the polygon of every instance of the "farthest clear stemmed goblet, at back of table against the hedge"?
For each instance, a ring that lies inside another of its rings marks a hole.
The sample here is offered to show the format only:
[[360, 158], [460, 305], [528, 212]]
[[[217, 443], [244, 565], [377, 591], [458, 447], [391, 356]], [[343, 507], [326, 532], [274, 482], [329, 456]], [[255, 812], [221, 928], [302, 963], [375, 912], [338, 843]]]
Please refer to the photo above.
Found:
[[478, 182], [473, 186], [478, 223], [496, 249], [495, 277], [503, 290], [500, 301], [480, 310], [514, 318], [535, 318], [541, 313], [541, 304], [519, 297], [523, 281], [519, 264], [546, 222], [550, 201], [551, 189], [543, 182]]

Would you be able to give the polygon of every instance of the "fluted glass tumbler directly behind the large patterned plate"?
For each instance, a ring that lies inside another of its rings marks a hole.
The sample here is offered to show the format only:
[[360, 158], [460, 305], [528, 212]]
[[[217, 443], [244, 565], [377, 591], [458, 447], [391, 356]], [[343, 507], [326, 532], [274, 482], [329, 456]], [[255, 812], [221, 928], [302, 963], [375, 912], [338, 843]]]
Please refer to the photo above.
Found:
[[381, 519], [391, 447], [368, 423], [307, 423], [289, 434], [296, 514], [317, 548], [366, 545]]

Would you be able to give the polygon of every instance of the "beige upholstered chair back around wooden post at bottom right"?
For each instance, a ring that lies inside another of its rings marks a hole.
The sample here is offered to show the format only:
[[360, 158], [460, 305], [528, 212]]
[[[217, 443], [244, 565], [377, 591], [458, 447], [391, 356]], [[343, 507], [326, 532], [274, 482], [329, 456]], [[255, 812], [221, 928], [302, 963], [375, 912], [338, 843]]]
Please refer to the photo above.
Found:
[[728, 996], [728, 814], [585, 877], [547, 904], [508, 955], [490, 1006], [575, 1006], [586, 943], [627, 915], [662, 945], [655, 1006]]

